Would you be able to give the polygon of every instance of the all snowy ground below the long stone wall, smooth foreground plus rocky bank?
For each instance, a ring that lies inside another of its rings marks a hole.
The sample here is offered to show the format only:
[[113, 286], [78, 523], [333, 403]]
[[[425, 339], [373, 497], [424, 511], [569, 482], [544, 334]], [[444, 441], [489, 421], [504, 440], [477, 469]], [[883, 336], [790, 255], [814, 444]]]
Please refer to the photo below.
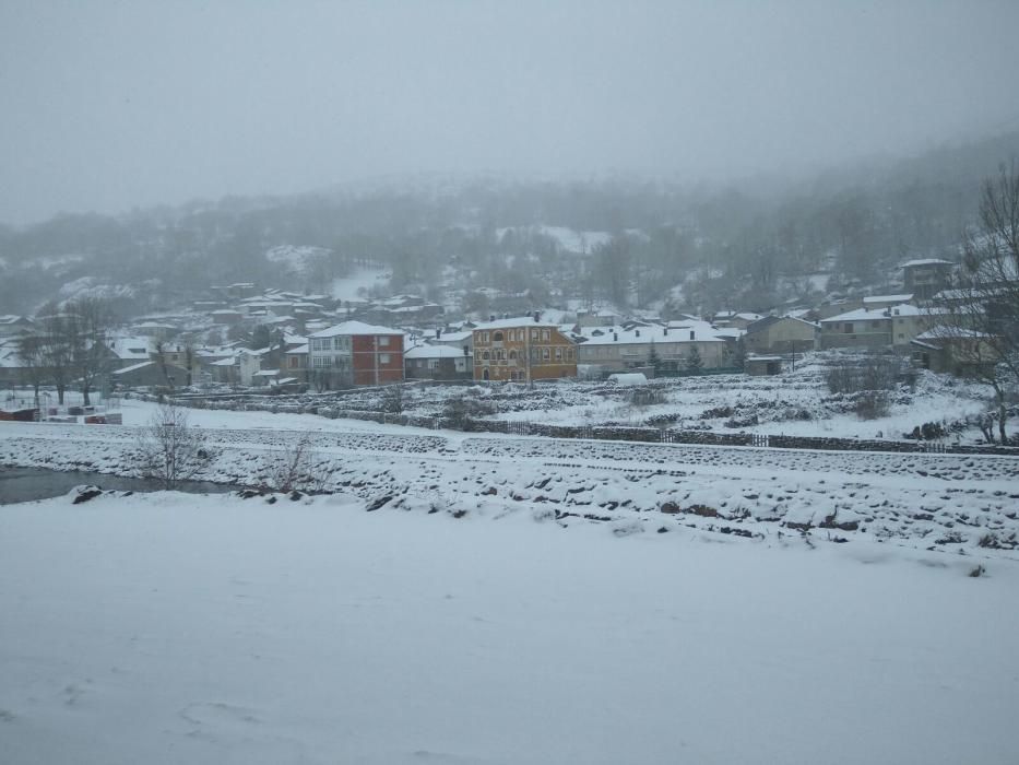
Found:
[[0, 506], [4, 763], [1016, 762], [1017, 459], [190, 414], [339, 493]]

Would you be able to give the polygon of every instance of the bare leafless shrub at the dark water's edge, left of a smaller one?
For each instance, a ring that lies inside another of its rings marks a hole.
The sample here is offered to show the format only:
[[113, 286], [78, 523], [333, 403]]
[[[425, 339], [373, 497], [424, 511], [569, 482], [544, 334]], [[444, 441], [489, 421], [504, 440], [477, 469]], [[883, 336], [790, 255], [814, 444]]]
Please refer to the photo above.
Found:
[[175, 489], [193, 479], [209, 461], [204, 436], [188, 422], [187, 410], [163, 404], [142, 428], [135, 445], [139, 472]]

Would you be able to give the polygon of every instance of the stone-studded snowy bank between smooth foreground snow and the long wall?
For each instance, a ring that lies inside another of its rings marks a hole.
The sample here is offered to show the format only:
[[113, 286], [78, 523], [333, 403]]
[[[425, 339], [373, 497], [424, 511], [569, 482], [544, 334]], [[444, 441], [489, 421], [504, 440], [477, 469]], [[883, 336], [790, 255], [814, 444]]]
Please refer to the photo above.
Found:
[[[137, 475], [153, 404], [125, 426], [3, 423], [0, 464]], [[696, 528], [758, 540], [879, 541], [980, 565], [1015, 560], [1019, 459], [722, 448], [472, 435], [315, 415], [192, 410], [211, 458], [194, 478], [272, 485], [304, 440], [309, 484], [448, 514], [528, 513], [615, 534]]]

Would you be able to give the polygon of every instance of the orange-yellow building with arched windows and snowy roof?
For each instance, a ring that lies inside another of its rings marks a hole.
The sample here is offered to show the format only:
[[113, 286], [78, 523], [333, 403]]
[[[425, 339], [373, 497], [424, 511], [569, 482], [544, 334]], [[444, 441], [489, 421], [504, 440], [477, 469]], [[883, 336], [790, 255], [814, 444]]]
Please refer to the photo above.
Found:
[[474, 328], [475, 380], [548, 380], [577, 376], [577, 349], [553, 323], [529, 317]]

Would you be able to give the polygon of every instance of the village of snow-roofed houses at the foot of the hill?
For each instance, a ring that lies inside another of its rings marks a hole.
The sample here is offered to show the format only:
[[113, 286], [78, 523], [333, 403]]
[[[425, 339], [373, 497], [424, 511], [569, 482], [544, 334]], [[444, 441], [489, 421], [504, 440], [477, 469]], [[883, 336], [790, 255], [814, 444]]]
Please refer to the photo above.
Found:
[[[142, 317], [115, 334], [108, 385], [329, 390], [411, 379], [531, 382], [632, 370], [675, 375], [742, 367], [777, 374], [792, 354], [816, 349], [888, 349], [925, 367], [951, 369], [952, 346], [979, 339], [943, 327], [937, 298], [946, 294], [950, 268], [943, 260], [910, 261], [903, 283], [915, 292], [782, 315], [730, 309], [662, 320], [578, 309], [493, 315], [460, 326], [443, 321], [442, 306], [416, 295], [341, 303], [239, 282], [212, 287], [186, 314]], [[32, 331], [27, 317], [0, 316], [0, 382], [20, 382], [24, 363], [16, 337]]]

